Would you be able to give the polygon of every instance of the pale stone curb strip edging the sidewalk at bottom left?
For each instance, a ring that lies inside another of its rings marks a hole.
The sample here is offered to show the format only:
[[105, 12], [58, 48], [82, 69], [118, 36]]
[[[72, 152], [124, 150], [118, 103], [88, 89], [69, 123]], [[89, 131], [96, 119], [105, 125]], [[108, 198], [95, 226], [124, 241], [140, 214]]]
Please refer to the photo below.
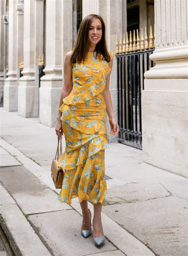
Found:
[[52, 255], [1, 183], [0, 194], [0, 225], [14, 254], [16, 256]]

